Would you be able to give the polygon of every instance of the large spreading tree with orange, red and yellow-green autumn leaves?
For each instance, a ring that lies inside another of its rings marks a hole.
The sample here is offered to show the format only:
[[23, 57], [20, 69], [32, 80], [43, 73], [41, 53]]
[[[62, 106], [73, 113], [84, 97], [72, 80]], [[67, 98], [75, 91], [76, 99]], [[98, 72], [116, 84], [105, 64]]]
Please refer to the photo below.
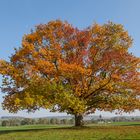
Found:
[[3, 108], [67, 112], [76, 126], [96, 109], [140, 109], [140, 58], [131, 46], [128, 32], [112, 22], [84, 30], [60, 20], [38, 25], [0, 61]]

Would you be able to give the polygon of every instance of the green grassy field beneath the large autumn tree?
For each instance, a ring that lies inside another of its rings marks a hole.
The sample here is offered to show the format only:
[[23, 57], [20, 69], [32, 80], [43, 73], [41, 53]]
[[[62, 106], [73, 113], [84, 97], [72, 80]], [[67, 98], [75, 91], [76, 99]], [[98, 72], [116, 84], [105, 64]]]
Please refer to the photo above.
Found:
[[72, 126], [0, 127], [0, 140], [140, 140], [140, 122]]

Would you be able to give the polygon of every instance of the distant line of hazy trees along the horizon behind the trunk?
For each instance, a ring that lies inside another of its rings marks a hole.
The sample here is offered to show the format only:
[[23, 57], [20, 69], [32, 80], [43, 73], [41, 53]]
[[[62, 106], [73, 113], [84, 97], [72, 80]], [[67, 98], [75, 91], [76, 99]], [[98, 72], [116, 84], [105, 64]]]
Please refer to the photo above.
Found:
[[[1, 126], [20, 126], [20, 125], [74, 125], [74, 118], [12, 118], [1, 119]], [[112, 118], [103, 118], [101, 115], [98, 118], [91, 118], [90, 120], [84, 120], [84, 124], [93, 123], [111, 123], [111, 122], [136, 122], [140, 121], [140, 117], [125, 117], [118, 116]]]

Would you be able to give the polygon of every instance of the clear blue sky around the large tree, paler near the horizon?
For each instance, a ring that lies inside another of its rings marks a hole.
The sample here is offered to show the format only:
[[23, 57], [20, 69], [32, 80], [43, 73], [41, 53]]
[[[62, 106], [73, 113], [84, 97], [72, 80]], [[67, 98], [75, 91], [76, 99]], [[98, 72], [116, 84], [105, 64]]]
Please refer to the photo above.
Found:
[[[24, 34], [30, 33], [38, 24], [61, 19], [74, 27], [84, 29], [93, 23], [108, 21], [124, 25], [133, 38], [129, 50], [140, 57], [140, 0], [0, 0], [0, 59], [8, 60], [14, 48], [21, 46]], [[1, 84], [1, 77], [0, 77]], [[0, 104], [3, 101], [0, 92]], [[95, 115], [115, 115], [97, 111]], [[40, 110], [36, 113], [21, 111], [10, 114], [0, 107], [0, 116], [16, 115], [41, 117], [65, 115]], [[139, 111], [123, 115], [140, 115]]]

